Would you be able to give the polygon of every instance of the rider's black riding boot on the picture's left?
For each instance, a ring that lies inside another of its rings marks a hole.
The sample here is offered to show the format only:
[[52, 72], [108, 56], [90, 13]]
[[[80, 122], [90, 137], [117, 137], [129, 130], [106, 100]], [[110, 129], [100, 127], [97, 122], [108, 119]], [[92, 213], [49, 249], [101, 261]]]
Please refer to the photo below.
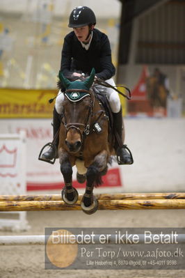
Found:
[[58, 143], [59, 143], [59, 134], [57, 136], [56, 133], [58, 132], [60, 125], [61, 125], [60, 114], [57, 113], [54, 107], [54, 113], [53, 113], [53, 132], [55, 138], [54, 147], [51, 146], [49, 150], [47, 150], [47, 152], [42, 154], [43, 160], [53, 160], [54, 158], [56, 158], [56, 150], [58, 150]]

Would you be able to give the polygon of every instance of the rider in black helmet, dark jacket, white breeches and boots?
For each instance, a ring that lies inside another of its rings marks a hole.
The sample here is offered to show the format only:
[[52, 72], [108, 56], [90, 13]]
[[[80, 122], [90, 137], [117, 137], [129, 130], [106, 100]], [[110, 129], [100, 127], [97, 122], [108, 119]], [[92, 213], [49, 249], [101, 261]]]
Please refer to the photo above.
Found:
[[[113, 75], [115, 75], [115, 67], [111, 61], [111, 47], [108, 37], [95, 29], [96, 17], [93, 10], [86, 6], [79, 6], [72, 10], [68, 26], [73, 28], [73, 31], [65, 36], [61, 71], [65, 77], [72, 73], [73, 77], [81, 77], [81, 73], [90, 75], [92, 68], [95, 68], [95, 78], [106, 80], [108, 84], [115, 86]], [[113, 126], [115, 132], [120, 137], [122, 142], [122, 107], [120, 98], [113, 88], [107, 88], [106, 91], [108, 102], [113, 112]], [[64, 95], [59, 91], [54, 107], [54, 137], [60, 128], [61, 121], [59, 115], [63, 111]], [[115, 151], [118, 157], [119, 164], [133, 163], [130, 153], [126, 150], [127, 146], [120, 144], [119, 140], [115, 139]], [[58, 139], [55, 141], [58, 148]], [[46, 153], [42, 154], [42, 159], [52, 160], [55, 157], [55, 148], [50, 147]]]

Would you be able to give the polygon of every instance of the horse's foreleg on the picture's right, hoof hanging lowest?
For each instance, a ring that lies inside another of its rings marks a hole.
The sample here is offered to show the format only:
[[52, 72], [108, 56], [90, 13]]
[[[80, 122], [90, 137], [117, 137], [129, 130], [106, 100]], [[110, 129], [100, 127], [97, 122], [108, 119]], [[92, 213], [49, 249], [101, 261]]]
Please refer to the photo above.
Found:
[[93, 164], [90, 164], [86, 173], [86, 192], [81, 201], [81, 208], [84, 213], [92, 214], [97, 210], [97, 200], [93, 196], [93, 189], [95, 185], [102, 184], [102, 171], [106, 169], [108, 153], [103, 150], [96, 155]]

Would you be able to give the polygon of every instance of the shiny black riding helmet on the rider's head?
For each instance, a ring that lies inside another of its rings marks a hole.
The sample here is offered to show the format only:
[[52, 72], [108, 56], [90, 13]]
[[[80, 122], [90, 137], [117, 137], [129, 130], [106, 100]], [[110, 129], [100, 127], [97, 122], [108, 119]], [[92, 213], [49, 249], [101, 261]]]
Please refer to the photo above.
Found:
[[86, 6], [79, 6], [72, 10], [68, 27], [79, 28], [90, 24], [96, 24], [96, 17], [93, 10]]

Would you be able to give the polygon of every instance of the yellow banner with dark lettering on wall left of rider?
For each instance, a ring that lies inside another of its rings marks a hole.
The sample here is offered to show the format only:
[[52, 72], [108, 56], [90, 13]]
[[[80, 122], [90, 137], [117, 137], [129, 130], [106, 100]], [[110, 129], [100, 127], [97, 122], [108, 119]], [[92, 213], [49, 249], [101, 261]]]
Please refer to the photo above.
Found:
[[51, 118], [57, 90], [0, 88], [0, 118]]

